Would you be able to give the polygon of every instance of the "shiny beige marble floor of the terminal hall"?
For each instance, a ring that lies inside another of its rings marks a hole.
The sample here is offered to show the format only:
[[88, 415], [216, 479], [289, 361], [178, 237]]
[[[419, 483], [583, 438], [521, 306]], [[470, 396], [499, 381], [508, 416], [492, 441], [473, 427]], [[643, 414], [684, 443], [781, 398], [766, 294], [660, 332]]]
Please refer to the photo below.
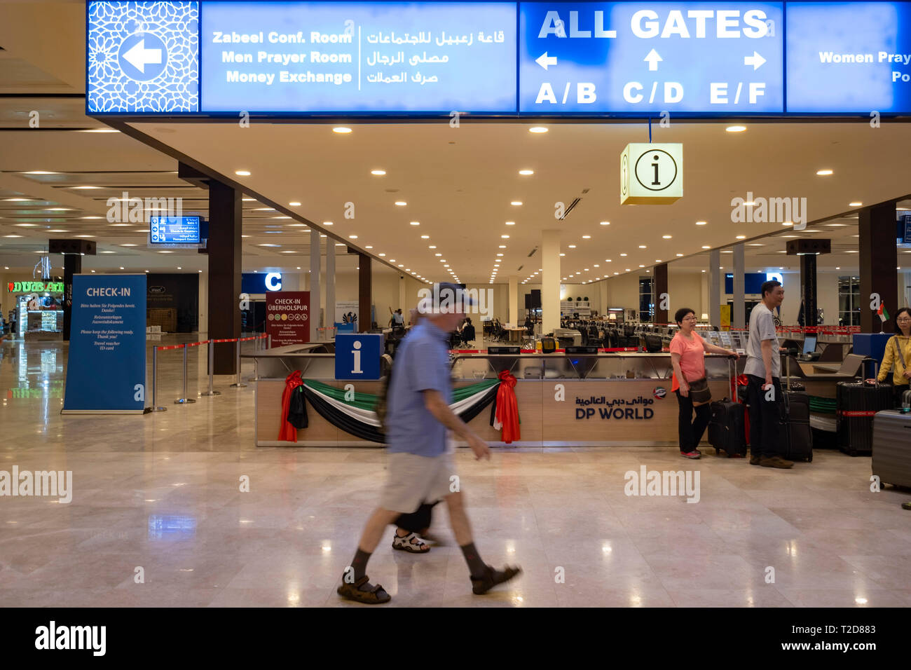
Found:
[[[206, 379], [191, 351], [195, 394]], [[0, 344], [0, 470], [72, 470], [74, 489], [69, 503], [0, 497], [0, 607], [365, 606], [335, 585], [384, 450], [254, 448], [255, 384], [217, 378], [220, 396], [174, 406], [180, 358], [167, 354], [167, 412], [63, 417], [64, 345]], [[711, 451], [517, 448], [476, 462], [460, 449], [478, 550], [524, 574], [473, 595], [443, 506], [440, 544], [393, 551], [390, 530], [368, 572], [386, 606], [911, 605], [911, 491], [870, 491], [870, 459], [817, 450], [771, 470]], [[643, 465], [698, 470], [699, 502], [627, 496]]]

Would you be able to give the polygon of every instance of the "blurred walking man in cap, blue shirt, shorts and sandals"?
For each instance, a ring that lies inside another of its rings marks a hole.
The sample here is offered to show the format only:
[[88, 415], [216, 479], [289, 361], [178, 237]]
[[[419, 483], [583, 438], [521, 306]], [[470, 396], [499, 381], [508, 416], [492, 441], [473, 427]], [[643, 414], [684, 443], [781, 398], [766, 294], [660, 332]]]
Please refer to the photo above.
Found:
[[[364, 526], [357, 552], [345, 569], [337, 592], [359, 603], [388, 603], [391, 596], [367, 578], [367, 561], [388, 524], [418, 509], [425, 500], [444, 499], [455, 541], [468, 563], [472, 591], [486, 593], [521, 572], [506, 566], [495, 570], [481, 560], [472, 539], [464, 496], [446, 452], [446, 431], [466, 440], [476, 459], [490, 459], [490, 448], [449, 408], [452, 384], [447, 344], [465, 317], [468, 298], [452, 283], [434, 285], [433, 302], [419, 305], [420, 323], [404, 338], [395, 356], [395, 374], [388, 392], [386, 443], [388, 477], [380, 505]], [[452, 479], [451, 479], [452, 478]], [[455, 489], [455, 490], [454, 490]]]

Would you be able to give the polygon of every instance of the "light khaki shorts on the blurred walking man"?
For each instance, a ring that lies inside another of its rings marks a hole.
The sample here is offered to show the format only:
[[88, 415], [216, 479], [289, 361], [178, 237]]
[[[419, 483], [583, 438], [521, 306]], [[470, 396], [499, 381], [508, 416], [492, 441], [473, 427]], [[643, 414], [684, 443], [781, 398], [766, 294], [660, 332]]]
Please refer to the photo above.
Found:
[[404, 451], [389, 454], [389, 473], [380, 507], [411, 514], [422, 502], [442, 500], [451, 494], [449, 478], [453, 475], [455, 468], [448, 453], [435, 457]]

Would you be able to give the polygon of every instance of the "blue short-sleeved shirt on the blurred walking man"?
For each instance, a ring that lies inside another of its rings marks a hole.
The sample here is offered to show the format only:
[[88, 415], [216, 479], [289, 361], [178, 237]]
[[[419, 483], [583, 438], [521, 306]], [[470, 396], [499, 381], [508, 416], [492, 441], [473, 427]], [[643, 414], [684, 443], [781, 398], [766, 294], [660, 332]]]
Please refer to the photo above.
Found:
[[439, 391], [452, 405], [449, 334], [422, 320], [405, 336], [393, 366], [385, 421], [389, 451], [440, 456], [446, 450], [446, 428], [427, 411], [424, 391]]

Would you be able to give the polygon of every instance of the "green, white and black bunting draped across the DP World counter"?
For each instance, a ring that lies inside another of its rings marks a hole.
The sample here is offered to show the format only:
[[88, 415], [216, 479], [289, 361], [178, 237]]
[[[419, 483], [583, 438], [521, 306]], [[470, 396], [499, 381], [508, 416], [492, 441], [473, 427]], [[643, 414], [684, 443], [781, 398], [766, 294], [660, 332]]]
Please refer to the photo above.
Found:
[[[496, 397], [500, 386], [498, 379], [486, 379], [453, 391], [453, 402], [449, 406], [466, 423], [480, 414]], [[345, 399], [348, 392], [312, 379], [303, 380], [303, 395], [306, 404], [336, 428], [341, 428], [358, 438], [383, 443], [380, 420], [376, 415], [378, 396], [370, 393], [354, 393], [351, 400]], [[306, 413], [306, 407], [304, 407]], [[281, 439], [281, 438], [280, 438]]]

